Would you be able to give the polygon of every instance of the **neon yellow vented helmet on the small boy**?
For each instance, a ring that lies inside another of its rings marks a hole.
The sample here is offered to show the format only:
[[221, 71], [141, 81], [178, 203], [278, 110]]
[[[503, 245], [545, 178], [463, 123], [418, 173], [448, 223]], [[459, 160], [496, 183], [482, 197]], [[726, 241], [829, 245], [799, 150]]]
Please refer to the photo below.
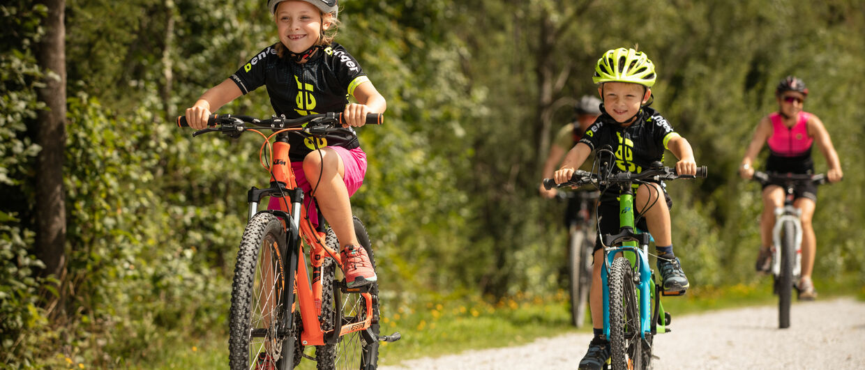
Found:
[[651, 87], [656, 77], [655, 64], [645, 53], [632, 48], [614, 48], [600, 57], [592, 81], [596, 84], [629, 82]]

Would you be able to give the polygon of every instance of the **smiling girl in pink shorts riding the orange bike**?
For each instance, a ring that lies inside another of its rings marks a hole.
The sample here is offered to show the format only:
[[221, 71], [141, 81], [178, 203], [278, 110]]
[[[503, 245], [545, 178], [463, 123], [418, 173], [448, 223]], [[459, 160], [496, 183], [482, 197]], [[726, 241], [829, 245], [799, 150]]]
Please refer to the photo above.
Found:
[[[355, 194], [366, 174], [366, 153], [354, 127], [365, 123], [367, 113], [381, 113], [387, 103], [375, 90], [360, 64], [333, 42], [338, 21], [336, 0], [269, 0], [267, 8], [276, 23], [279, 41], [261, 50], [230, 78], [204, 92], [186, 110], [189, 126], [202, 129], [211, 112], [222, 105], [266, 86], [273, 111], [285, 118], [343, 112], [343, 130], [320, 140], [290, 135], [289, 153], [298, 186], [310, 219], [317, 224], [318, 208], [342, 246], [349, 287], [375, 282], [375, 270], [358, 242], [349, 196]], [[330, 31], [330, 33], [325, 33]], [[348, 96], [357, 103], [349, 103]], [[310, 196], [312, 195], [312, 196]], [[314, 198], [313, 198], [314, 196]], [[272, 198], [268, 209], [278, 209]]]

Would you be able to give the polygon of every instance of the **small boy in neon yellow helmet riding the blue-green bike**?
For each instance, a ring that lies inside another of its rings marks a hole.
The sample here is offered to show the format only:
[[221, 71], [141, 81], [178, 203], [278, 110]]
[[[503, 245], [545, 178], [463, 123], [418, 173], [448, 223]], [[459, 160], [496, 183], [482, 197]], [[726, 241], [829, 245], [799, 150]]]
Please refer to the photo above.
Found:
[[[574, 169], [579, 168], [593, 150], [605, 145], [611, 145], [614, 149], [618, 171], [639, 173], [644, 168], [650, 168], [653, 162], [663, 162], [664, 150], [667, 149], [679, 159], [676, 162], [678, 174], [696, 174], [694, 153], [688, 140], [673, 131], [667, 120], [649, 107], [653, 100], [651, 86], [655, 84], [656, 78], [654, 64], [646, 54], [635, 49], [612, 49], [601, 56], [592, 80], [599, 84], [603, 114], [586, 130], [580, 142], [567, 152], [561, 169], [554, 173], [556, 183], [569, 181]], [[618, 195], [605, 192], [603, 188], [600, 190], [599, 234], [595, 240], [592, 290], [589, 296], [594, 339], [589, 344], [586, 356], [580, 360], [580, 369], [603, 368], [610, 358], [610, 343], [603, 335], [600, 286], [603, 246], [600, 236], [618, 233]], [[638, 217], [648, 226], [657, 246], [657, 268], [663, 277], [663, 290], [683, 293], [689, 283], [679, 258], [673, 254], [670, 196], [663, 182], [640, 185], [636, 193], [634, 204]]]

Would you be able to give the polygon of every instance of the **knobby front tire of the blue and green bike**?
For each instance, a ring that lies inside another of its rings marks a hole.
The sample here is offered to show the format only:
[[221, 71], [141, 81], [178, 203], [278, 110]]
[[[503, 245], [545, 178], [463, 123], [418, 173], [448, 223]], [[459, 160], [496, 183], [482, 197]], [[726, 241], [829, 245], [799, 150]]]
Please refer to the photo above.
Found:
[[640, 309], [631, 261], [624, 257], [615, 258], [608, 283], [612, 369], [640, 369], [643, 363], [643, 341], [640, 336]]

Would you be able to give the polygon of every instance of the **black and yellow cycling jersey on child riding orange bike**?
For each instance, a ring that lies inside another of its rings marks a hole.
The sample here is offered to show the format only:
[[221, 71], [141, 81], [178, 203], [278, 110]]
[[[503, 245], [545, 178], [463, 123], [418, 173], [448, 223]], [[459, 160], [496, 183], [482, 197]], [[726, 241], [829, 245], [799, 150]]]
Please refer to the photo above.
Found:
[[[369, 80], [360, 63], [336, 42], [318, 50], [305, 63], [292, 61], [287, 56], [279, 58], [276, 45], [253, 56], [231, 75], [231, 80], [244, 94], [266, 86], [277, 116], [299, 118], [308, 114], [343, 112], [349, 95]], [[300, 134], [292, 133], [289, 137], [292, 162], [303, 161], [304, 156], [316, 148], [316, 143]], [[319, 139], [317, 146], [354, 149], [360, 143], [354, 129], [349, 127]]]

